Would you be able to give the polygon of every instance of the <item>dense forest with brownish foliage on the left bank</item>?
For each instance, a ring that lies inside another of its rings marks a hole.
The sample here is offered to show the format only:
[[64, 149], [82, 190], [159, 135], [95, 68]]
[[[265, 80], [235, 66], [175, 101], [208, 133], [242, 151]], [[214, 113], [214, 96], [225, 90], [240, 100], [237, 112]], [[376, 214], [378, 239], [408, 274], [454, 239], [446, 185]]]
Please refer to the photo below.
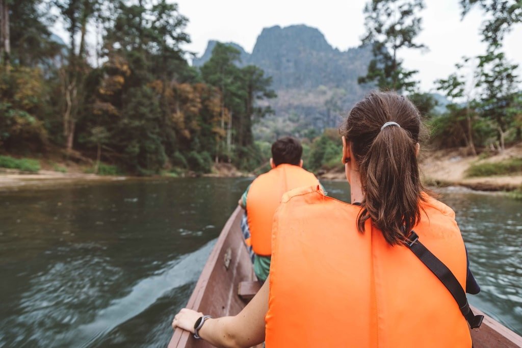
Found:
[[[188, 19], [176, 4], [2, 0], [0, 8], [3, 152], [59, 152], [108, 174], [260, 161], [251, 124], [270, 112], [257, 101], [275, 95], [271, 79], [236, 67], [239, 51], [221, 44], [205, 66], [189, 66], [181, 48]], [[51, 33], [56, 20], [69, 44]], [[99, 34], [94, 50], [88, 28]]]

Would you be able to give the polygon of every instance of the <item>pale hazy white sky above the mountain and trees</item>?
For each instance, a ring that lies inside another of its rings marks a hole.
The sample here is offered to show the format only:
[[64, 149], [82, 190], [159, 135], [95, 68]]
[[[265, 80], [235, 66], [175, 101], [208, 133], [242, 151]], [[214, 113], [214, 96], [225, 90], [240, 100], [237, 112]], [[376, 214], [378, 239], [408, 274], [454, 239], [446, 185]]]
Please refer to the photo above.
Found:
[[[187, 32], [192, 43], [186, 50], [203, 54], [208, 40], [233, 41], [252, 52], [257, 36], [265, 27], [305, 24], [318, 28], [328, 43], [339, 50], [360, 44], [364, 34], [363, 0], [177, 0], [181, 14], [189, 19]], [[460, 20], [458, 0], [425, 0], [423, 31], [418, 42], [428, 52], [400, 53], [405, 65], [419, 70], [423, 90], [433, 81], [454, 71], [460, 57], [485, 52], [479, 28], [483, 21], [477, 8]], [[504, 42], [506, 55], [522, 65], [522, 25], [517, 25]], [[522, 73], [522, 71], [521, 71]]]

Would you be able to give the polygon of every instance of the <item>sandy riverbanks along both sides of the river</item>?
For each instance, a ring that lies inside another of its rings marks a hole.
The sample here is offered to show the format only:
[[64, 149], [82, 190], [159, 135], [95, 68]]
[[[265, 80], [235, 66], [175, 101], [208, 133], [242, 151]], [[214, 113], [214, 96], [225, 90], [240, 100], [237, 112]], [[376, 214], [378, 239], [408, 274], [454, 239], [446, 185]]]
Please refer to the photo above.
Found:
[[[421, 174], [423, 181], [431, 186], [459, 186], [479, 191], [515, 191], [522, 189], [522, 172], [509, 175], [490, 175], [483, 177], [468, 177], [467, 171], [477, 164], [501, 164], [508, 160], [522, 160], [522, 143], [506, 149], [501, 154], [486, 157], [484, 154], [468, 156], [464, 149], [425, 151], [421, 157]], [[25, 173], [17, 170], [0, 168], [0, 189], [18, 189], [24, 186], [56, 185], [61, 183], [115, 181], [132, 178], [133, 176], [96, 175], [85, 173], [86, 166], [76, 163], [57, 163], [39, 161], [42, 170], [35, 173]], [[90, 168], [90, 166], [89, 166]], [[52, 170], [54, 169], [54, 170]], [[165, 173], [160, 177], [249, 177], [252, 173], [242, 172], [230, 163], [213, 164], [211, 173], [197, 174], [184, 171]], [[156, 177], [156, 176], [155, 176]], [[326, 180], [345, 180], [344, 167], [330, 171], [319, 171], [318, 177]]]

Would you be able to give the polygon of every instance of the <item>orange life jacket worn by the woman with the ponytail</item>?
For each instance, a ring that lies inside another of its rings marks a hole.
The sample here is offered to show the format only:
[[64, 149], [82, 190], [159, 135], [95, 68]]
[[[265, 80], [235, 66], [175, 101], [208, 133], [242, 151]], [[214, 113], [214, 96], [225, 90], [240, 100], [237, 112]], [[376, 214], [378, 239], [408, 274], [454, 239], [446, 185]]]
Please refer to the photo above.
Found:
[[[455, 213], [428, 197], [419, 241], [465, 289], [464, 242]], [[361, 207], [296, 189], [272, 230], [266, 346], [471, 347], [468, 324], [440, 280], [405, 246], [389, 246]]]

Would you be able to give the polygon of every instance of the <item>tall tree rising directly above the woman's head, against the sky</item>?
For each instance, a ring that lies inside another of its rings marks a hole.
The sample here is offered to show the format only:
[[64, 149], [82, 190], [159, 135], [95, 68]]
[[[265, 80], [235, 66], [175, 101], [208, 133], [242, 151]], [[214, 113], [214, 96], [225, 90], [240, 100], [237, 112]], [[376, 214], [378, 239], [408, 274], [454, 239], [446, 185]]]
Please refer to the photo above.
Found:
[[359, 83], [375, 83], [381, 90], [413, 92], [417, 70], [402, 66], [398, 52], [422, 49], [414, 42], [421, 31], [422, 19], [416, 13], [424, 8], [423, 0], [371, 0], [364, 7], [366, 34], [362, 45], [371, 45], [373, 59], [366, 76]]

